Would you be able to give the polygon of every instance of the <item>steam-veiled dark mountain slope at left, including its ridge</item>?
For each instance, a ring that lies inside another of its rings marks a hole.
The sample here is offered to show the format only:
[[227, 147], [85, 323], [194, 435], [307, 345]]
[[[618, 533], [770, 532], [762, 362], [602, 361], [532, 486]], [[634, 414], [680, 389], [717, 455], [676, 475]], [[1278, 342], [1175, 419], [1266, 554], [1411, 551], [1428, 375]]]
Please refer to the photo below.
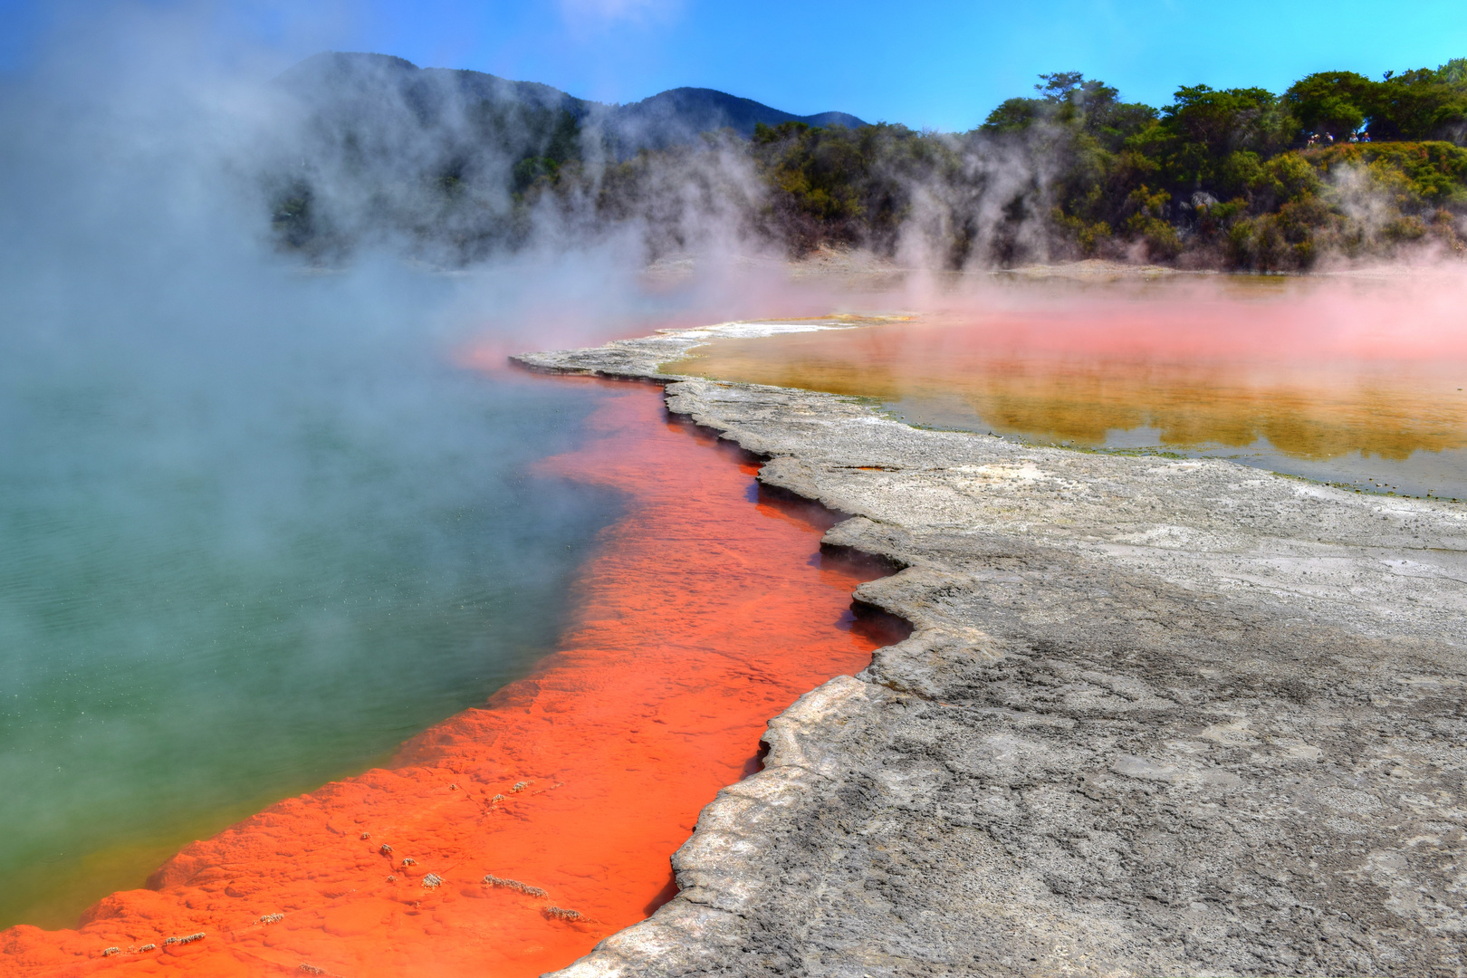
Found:
[[[279, 240], [317, 257], [390, 240], [436, 261], [474, 261], [530, 243], [544, 188], [568, 192], [587, 173], [615, 179], [618, 163], [641, 151], [681, 161], [706, 132], [738, 141], [764, 123], [866, 125], [709, 88], [613, 106], [386, 54], [317, 54], [273, 88], [280, 125], [263, 150], [261, 186]], [[587, 213], [574, 223], [585, 233], [603, 224]]]

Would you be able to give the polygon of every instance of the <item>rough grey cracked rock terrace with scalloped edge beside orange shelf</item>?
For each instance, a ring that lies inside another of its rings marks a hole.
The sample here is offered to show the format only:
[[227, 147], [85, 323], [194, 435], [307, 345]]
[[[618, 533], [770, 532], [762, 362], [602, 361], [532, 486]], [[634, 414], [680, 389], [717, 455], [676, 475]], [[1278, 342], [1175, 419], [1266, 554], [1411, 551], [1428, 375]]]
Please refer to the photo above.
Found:
[[[673, 381], [681, 333], [521, 358]], [[701, 380], [667, 408], [851, 513], [912, 623], [807, 694], [566, 978], [1467, 971], [1467, 507], [921, 431]]]

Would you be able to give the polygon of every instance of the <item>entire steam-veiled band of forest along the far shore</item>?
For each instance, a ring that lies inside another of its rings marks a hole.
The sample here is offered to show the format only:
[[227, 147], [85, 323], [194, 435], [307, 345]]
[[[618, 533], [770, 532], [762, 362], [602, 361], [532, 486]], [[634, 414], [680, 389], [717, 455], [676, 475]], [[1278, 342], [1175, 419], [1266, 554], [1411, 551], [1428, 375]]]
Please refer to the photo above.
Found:
[[[698, 119], [676, 91], [657, 97], [666, 119]], [[380, 104], [349, 114], [318, 103], [311, 151], [276, 185], [282, 242], [326, 254], [390, 229], [472, 261], [635, 229], [647, 257], [725, 240], [792, 255], [870, 248], [946, 268], [1106, 257], [1263, 271], [1460, 257], [1467, 239], [1464, 59], [1380, 81], [1325, 72], [1282, 94], [1182, 87], [1162, 107], [1061, 72], [964, 133], [741, 117], [672, 139], [657, 135], [673, 123], [659, 122], [654, 98], [622, 116], [638, 120], [635, 154], [626, 129], [565, 103], [455, 98], [456, 122], [427, 142], [421, 106], [400, 110], [414, 128], [384, 122]], [[411, 132], [412, 147], [384, 132]]]

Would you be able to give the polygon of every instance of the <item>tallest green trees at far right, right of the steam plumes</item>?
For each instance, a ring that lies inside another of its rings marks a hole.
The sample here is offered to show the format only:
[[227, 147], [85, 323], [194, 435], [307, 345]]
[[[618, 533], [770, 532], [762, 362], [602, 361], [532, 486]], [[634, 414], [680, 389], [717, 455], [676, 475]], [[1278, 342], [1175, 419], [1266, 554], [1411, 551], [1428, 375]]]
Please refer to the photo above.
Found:
[[1375, 82], [1325, 72], [1282, 95], [1177, 89], [1160, 110], [1077, 73], [1043, 78], [978, 135], [1055, 164], [1055, 236], [1078, 254], [1241, 268], [1323, 255], [1461, 252], [1467, 213], [1467, 60]]

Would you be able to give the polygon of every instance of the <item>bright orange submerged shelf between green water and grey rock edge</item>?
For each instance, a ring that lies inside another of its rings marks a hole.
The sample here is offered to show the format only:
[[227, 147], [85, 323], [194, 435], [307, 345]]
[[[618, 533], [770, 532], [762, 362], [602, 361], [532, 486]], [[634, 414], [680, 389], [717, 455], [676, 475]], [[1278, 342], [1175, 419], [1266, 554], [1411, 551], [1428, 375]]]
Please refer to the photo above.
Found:
[[864, 578], [823, 566], [820, 528], [758, 501], [756, 466], [667, 421], [660, 389], [618, 386], [596, 424], [546, 465], [628, 507], [557, 654], [79, 930], [0, 933], [0, 975], [538, 975], [669, 899], [667, 858], [757, 770], [766, 721], [880, 642], [849, 614]]

